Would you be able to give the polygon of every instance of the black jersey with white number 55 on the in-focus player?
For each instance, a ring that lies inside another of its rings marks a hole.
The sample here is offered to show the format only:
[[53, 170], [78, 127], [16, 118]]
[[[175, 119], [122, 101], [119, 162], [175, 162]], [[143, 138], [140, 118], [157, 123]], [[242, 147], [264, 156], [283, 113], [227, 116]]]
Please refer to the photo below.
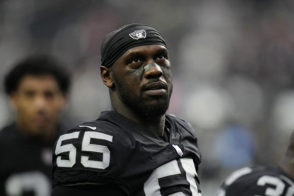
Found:
[[127, 195], [201, 195], [201, 153], [189, 123], [166, 115], [164, 138], [115, 111], [61, 135], [52, 184], [113, 184]]

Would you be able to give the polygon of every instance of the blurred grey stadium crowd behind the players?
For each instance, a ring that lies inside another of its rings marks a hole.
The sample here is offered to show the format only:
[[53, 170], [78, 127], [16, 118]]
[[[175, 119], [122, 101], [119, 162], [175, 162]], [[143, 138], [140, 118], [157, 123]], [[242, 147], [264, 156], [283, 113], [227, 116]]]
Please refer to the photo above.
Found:
[[[294, 130], [292, 0], [2, 0], [1, 82], [25, 56], [54, 55], [72, 72], [63, 120], [94, 120], [110, 108], [100, 43], [133, 22], [165, 38], [174, 84], [168, 112], [197, 132], [203, 195], [237, 168], [278, 164]], [[13, 114], [0, 90], [3, 127]]]

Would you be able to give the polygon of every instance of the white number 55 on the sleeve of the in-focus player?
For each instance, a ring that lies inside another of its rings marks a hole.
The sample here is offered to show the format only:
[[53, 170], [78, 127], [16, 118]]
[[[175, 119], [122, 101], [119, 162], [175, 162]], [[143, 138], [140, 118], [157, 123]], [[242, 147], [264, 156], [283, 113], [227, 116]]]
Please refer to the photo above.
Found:
[[[77, 131], [70, 134], [64, 134], [59, 137], [56, 144], [55, 155], [58, 155], [61, 153], [69, 153], [69, 160], [61, 159], [61, 156], [58, 156], [56, 159], [56, 164], [58, 167], [71, 168], [76, 163], [76, 156], [77, 156], [76, 147], [74, 147], [73, 144], [61, 145], [61, 143], [64, 140], [77, 139], [79, 138], [79, 135], [80, 135], [80, 131]], [[102, 161], [97, 161], [97, 160], [89, 160], [89, 156], [81, 156], [81, 164], [86, 168], [105, 169], [109, 166], [110, 151], [107, 148], [107, 146], [98, 145], [98, 144], [90, 144], [91, 138], [112, 142], [112, 136], [104, 134], [104, 133], [94, 132], [94, 131], [85, 131], [83, 141], [82, 141], [81, 151], [102, 153], [103, 158], [102, 158]]]

